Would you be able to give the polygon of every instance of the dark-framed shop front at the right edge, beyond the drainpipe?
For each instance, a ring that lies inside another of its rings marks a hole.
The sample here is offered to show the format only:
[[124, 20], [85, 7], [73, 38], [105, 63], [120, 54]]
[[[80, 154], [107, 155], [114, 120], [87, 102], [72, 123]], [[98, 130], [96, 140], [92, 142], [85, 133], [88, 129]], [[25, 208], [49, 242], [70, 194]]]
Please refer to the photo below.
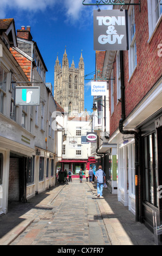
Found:
[[140, 127], [140, 216], [141, 222], [153, 230], [153, 212], [162, 223], [162, 110]]

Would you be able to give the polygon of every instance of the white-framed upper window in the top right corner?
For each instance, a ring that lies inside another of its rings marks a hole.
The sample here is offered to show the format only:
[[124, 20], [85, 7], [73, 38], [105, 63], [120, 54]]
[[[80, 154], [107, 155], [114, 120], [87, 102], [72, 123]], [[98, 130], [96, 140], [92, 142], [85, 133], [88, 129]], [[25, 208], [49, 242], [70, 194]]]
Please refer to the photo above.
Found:
[[162, 13], [162, 0], [147, 0], [148, 6], [148, 30], [151, 38], [154, 29], [158, 25]]

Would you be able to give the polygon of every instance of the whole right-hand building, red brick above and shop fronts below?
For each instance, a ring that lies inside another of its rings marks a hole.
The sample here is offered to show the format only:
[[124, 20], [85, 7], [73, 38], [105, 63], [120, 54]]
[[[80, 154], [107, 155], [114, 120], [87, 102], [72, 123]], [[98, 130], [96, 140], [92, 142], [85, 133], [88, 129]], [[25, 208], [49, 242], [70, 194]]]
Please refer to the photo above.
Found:
[[[112, 78], [108, 81], [107, 153], [111, 155], [111, 144], [116, 144], [118, 200], [153, 230], [152, 212], [158, 224], [162, 222], [158, 194], [162, 182], [161, 5], [144, 0], [141, 10], [133, 5], [124, 8], [128, 9], [129, 50], [106, 51], [103, 61], [102, 75]], [[112, 172], [111, 161], [106, 168]]]

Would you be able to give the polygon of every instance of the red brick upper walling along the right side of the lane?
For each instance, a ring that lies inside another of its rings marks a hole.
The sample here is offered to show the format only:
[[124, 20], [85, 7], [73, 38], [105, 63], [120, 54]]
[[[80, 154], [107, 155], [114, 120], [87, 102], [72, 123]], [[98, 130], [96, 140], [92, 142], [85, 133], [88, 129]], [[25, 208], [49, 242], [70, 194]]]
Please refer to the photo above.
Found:
[[[125, 109], [126, 117], [133, 111], [144, 96], [151, 90], [162, 74], [161, 60], [158, 56], [158, 45], [162, 43], [162, 22], [155, 31], [148, 44], [148, 13], [147, 1], [141, 1], [135, 7], [135, 36], [137, 44], [137, 68], [129, 80], [128, 51], [124, 51], [124, 81], [125, 81]], [[114, 76], [116, 77], [116, 63], [114, 63]], [[129, 80], [129, 82], [128, 82]], [[109, 106], [111, 108], [111, 82], [109, 82]], [[111, 115], [110, 135], [119, 127], [121, 118], [121, 103], [117, 103], [116, 81], [114, 84], [114, 113]]]

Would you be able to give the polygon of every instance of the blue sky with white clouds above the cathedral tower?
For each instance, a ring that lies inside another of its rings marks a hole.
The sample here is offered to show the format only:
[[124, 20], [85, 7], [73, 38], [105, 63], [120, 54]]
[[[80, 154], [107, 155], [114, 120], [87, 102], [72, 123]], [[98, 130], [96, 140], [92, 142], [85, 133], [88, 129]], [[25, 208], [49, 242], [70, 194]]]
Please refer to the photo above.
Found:
[[[69, 65], [74, 58], [77, 68], [82, 51], [85, 75], [95, 71], [93, 9], [97, 7], [85, 6], [82, 0], [1, 0], [0, 19], [14, 18], [16, 31], [21, 26], [31, 27], [33, 40], [37, 42], [48, 69], [46, 82], [54, 86], [55, 60], [58, 53], [62, 65], [65, 47]], [[86, 79], [92, 77], [93, 75], [87, 76]], [[87, 111], [92, 112], [92, 105], [90, 80], [85, 80]]]

